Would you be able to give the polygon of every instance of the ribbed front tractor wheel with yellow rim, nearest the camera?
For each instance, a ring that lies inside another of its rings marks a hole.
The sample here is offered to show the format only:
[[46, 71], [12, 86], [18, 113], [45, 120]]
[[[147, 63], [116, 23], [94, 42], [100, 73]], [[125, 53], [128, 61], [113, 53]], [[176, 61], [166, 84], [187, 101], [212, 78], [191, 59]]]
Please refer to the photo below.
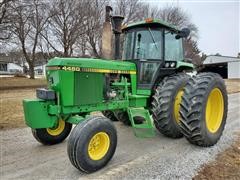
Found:
[[67, 146], [71, 163], [80, 171], [91, 173], [104, 167], [117, 146], [117, 132], [111, 121], [102, 116], [84, 120], [73, 129]]

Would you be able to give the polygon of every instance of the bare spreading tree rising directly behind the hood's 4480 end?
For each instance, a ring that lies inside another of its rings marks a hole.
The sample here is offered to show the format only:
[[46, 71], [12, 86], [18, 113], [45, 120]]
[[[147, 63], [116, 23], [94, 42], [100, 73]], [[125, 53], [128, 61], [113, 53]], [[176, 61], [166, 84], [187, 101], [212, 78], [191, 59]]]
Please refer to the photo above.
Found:
[[88, 2], [54, 0], [51, 3], [48, 28], [41, 35], [59, 56], [69, 57], [77, 39], [86, 33], [85, 5]]

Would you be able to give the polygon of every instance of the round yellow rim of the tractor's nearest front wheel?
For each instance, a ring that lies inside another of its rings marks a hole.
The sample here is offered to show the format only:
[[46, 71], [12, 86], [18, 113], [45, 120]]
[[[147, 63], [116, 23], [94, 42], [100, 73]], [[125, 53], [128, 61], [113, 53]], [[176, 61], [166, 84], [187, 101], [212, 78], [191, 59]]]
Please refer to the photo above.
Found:
[[95, 134], [88, 144], [88, 155], [92, 160], [102, 159], [108, 152], [110, 139], [107, 133]]

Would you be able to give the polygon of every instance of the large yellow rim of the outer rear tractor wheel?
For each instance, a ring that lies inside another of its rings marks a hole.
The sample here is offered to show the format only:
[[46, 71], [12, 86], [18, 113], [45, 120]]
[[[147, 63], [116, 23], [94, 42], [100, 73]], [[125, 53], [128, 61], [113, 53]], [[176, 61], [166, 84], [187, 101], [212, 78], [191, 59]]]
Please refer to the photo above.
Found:
[[221, 126], [224, 112], [224, 101], [222, 92], [214, 88], [208, 96], [206, 106], [206, 124], [211, 133], [217, 132]]

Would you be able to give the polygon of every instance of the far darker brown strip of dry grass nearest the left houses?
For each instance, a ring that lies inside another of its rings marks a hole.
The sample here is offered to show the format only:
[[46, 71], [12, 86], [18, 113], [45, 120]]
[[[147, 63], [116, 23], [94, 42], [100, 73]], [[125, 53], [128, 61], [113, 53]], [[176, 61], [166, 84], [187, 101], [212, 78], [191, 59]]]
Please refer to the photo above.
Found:
[[46, 79], [29, 79], [25, 77], [0, 77], [0, 85], [0, 90], [44, 87], [46, 86]]

